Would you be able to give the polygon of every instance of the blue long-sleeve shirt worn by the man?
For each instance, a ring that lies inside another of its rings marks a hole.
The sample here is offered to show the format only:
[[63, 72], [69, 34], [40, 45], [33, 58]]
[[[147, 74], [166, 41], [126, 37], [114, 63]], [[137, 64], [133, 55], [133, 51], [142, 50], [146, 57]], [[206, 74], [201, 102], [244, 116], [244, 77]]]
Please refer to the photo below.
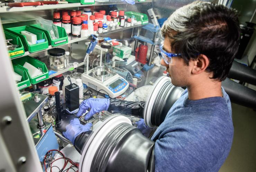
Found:
[[230, 99], [189, 100], [188, 90], [175, 102], [157, 128], [156, 172], [217, 172], [231, 149], [234, 128]]

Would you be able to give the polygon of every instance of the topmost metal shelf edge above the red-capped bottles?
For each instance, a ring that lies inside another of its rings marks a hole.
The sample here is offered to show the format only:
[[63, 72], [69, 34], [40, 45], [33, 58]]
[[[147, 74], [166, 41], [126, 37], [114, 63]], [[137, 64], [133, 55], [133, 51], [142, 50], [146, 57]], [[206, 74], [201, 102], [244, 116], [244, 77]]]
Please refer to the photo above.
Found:
[[[152, 0], [145, 0], [143, 2], [136, 1], [135, 3], [148, 3]], [[56, 5], [43, 5], [43, 6], [26, 6], [26, 7], [0, 7], [0, 13], [7, 12], [21, 12], [21, 11], [35, 11], [35, 10], [50, 10], [60, 8], [75, 8], [75, 7], [88, 7], [88, 6], [104, 6], [114, 4], [126, 4], [125, 1], [110, 1], [110, 2], [95, 2], [94, 4], [82, 5], [81, 3], [62, 3]]]

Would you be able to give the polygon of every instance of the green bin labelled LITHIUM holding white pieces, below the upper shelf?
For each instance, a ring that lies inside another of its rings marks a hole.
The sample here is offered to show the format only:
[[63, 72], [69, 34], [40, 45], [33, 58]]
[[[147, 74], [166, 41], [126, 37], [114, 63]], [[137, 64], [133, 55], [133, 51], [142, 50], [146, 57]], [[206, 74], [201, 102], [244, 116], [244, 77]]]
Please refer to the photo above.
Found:
[[40, 83], [43, 80], [49, 78], [47, 67], [42, 61], [39, 61], [39, 60], [34, 59], [32, 57], [29, 57], [29, 56], [25, 56], [25, 57], [22, 57], [22, 58], [13, 59], [12, 62], [15, 63], [16, 65], [19, 65], [23, 69], [25, 69], [27, 71], [27, 73], [28, 73], [28, 69], [23, 67], [25, 62], [30, 63], [31, 65], [35, 66], [36, 68], [42, 69], [43, 74], [38, 75], [34, 78], [32, 78], [28, 73], [28, 77], [30, 79], [31, 84], [37, 84], [37, 83]]

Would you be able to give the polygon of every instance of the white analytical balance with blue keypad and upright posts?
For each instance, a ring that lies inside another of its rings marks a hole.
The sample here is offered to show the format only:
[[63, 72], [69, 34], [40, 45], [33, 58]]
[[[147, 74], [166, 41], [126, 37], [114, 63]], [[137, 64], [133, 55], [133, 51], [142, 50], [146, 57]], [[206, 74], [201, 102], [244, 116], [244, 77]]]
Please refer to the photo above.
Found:
[[101, 48], [98, 45], [96, 45], [95, 48], [99, 49], [101, 52], [100, 66], [88, 70], [89, 58], [87, 58], [86, 73], [82, 74], [82, 82], [100, 93], [106, 94], [107, 92], [111, 98], [120, 96], [129, 87], [127, 80], [113, 73], [108, 67], [102, 66], [102, 51], [107, 52], [108, 49]]

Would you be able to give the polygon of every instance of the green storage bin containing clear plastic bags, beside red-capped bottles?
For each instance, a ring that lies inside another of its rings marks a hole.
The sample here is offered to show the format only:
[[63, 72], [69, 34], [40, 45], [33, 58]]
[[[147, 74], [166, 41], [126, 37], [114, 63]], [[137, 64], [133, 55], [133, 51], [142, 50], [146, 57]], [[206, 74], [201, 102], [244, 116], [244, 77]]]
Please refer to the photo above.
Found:
[[62, 27], [57, 26], [58, 33], [59, 33], [59, 38], [58, 39], [52, 39], [52, 37], [50, 36], [49, 31], [44, 30], [44, 28], [42, 28], [40, 26], [40, 24], [30, 25], [30, 27], [33, 27], [35, 29], [43, 31], [45, 33], [47, 39], [48, 39], [48, 44], [52, 45], [53, 47], [57, 47], [57, 46], [60, 46], [60, 45], [63, 45], [63, 44], [67, 44], [67, 42], [68, 42], [66, 30]]

